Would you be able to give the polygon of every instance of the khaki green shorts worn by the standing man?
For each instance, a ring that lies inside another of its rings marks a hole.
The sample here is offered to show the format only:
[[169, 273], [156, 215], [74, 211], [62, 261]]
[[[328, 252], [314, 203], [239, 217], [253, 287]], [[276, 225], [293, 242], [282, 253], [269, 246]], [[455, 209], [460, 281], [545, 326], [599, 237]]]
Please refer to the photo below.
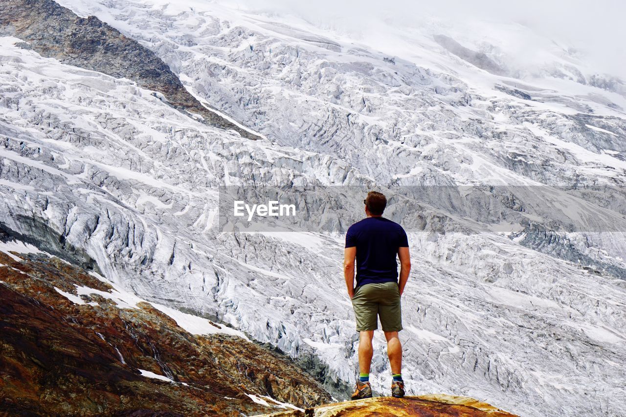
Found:
[[374, 282], [356, 287], [352, 297], [356, 316], [356, 331], [376, 330], [377, 317], [381, 319], [382, 331], [402, 330], [400, 290], [397, 282]]

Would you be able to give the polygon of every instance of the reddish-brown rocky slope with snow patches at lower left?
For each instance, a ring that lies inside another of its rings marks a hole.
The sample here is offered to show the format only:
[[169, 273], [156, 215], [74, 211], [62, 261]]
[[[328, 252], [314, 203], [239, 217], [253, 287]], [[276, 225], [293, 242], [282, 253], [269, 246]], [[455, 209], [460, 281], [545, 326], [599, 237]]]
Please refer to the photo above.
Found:
[[112, 288], [57, 258], [19, 256], [0, 252], [0, 414], [239, 416], [281, 409], [269, 398], [301, 408], [331, 399], [289, 359], [237, 336], [190, 334], [148, 302], [122, 307], [94, 292], [76, 304], [58, 290]]

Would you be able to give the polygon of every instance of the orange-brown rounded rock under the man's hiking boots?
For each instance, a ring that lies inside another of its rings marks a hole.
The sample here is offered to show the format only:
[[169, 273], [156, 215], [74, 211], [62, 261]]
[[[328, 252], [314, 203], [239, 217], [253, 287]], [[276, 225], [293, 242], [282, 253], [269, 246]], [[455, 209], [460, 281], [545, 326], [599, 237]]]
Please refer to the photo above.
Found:
[[405, 398], [377, 397], [326, 404], [304, 411], [294, 410], [268, 416], [357, 417], [357, 416], [423, 416], [423, 417], [515, 417], [490, 404], [473, 398], [445, 394]]

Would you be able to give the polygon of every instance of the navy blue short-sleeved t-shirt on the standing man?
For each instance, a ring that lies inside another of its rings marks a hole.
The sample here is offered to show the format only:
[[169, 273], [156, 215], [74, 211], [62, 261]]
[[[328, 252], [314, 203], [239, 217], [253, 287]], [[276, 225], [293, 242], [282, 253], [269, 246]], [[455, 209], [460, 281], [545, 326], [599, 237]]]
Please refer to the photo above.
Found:
[[351, 225], [346, 247], [356, 246], [356, 285], [398, 282], [398, 248], [409, 240], [401, 225], [384, 217], [366, 217]]

